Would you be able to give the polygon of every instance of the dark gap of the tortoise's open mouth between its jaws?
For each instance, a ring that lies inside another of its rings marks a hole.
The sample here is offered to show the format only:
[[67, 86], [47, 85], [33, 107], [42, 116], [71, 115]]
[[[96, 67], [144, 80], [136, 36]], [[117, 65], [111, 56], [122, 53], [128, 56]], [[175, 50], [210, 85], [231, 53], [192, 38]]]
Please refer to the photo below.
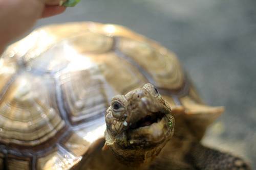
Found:
[[145, 117], [138, 120], [138, 122], [132, 124], [130, 126], [130, 130], [139, 129], [146, 126], [151, 126], [154, 123], [160, 122], [164, 117], [164, 113], [162, 112], [152, 112], [150, 115], [146, 115]]

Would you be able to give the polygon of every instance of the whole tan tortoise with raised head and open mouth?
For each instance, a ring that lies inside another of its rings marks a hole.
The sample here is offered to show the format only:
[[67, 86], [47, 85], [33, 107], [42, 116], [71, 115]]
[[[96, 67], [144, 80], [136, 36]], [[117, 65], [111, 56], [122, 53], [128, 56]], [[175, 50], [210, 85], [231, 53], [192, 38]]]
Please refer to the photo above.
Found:
[[4, 52], [0, 80], [1, 169], [250, 169], [200, 143], [223, 107], [124, 27], [39, 28]]

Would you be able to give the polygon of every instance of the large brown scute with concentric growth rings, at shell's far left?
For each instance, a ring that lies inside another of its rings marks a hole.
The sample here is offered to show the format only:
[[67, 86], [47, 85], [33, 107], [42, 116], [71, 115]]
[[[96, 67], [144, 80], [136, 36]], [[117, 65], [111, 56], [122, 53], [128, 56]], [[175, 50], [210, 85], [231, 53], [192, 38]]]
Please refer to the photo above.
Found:
[[[29, 75], [19, 76], [0, 103], [0, 141], [26, 146], [38, 145], [64, 127], [51, 106], [47, 85]], [[37, 89], [40, 89], [38, 91]]]

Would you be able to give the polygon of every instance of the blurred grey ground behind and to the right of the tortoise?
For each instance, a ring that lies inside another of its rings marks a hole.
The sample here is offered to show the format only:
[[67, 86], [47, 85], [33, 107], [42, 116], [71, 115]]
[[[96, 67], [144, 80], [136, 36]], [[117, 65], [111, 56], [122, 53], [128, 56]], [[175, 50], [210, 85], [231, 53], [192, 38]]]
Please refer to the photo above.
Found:
[[35, 28], [70, 21], [123, 25], [174, 51], [204, 101], [226, 107], [203, 142], [256, 169], [256, 1], [81, 0]]

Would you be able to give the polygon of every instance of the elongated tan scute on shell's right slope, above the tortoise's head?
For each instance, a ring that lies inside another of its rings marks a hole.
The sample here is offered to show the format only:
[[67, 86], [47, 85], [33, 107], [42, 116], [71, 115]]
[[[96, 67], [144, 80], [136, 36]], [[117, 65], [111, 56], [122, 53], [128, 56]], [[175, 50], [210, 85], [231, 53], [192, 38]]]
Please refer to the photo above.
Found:
[[119, 49], [148, 72], [147, 79], [158, 87], [179, 89], [184, 84], [184, 74], [175, 55], [161, 52], [147, 42], [127, 38], [119, 39]]

